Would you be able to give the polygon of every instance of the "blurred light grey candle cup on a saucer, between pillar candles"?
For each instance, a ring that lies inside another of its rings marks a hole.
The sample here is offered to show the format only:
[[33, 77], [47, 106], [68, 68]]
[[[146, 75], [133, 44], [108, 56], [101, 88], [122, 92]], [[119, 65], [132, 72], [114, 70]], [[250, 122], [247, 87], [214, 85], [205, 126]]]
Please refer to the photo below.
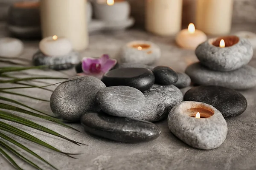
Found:
[[98, 0], [94, 7], [95, 18], [103, 21], [128, 20], [131, 11], [126, 0]]

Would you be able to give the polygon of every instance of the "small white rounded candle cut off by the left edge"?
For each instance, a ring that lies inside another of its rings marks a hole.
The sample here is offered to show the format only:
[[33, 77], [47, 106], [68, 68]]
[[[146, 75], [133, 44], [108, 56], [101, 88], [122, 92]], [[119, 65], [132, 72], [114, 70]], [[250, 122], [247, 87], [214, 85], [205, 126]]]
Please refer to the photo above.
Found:
[[15, 38], [0, 38], [0, 56], [18, 57], [23, 52], [23, 42]]

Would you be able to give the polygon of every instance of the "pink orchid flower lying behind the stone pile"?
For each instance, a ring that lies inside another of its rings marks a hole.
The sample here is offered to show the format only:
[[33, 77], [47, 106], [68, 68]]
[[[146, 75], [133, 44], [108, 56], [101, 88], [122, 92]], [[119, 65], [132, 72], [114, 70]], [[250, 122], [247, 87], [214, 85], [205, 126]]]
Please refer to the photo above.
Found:
[[95, 59], [84, 57], [82, 59], [83, 73], [80, 75], [88, 75], [101, 78], [105, 73], [110, 71], [116, 65], [116, 59], [110, 59], [108, 54], [103, 54], [102, 57]]

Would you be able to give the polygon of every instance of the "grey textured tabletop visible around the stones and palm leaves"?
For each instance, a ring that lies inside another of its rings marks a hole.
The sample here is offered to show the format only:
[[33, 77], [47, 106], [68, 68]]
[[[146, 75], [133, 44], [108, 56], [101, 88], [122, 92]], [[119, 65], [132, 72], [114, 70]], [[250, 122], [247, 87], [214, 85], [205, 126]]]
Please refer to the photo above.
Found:
[[[8, 36], [5, 30], [5, 24], [0, 24], [0, 37]], [[256, 32], [255, 25], [233, 27], [233, 32], [241, 30]], [[176, 71], [184, 71], [187, 65], [197, 61], [194, 51], [178, 48], [172, 37], [157, 37], [139, 30], [128, 30], [125, 32], [116, 32], [115, 34], [97, 33], [90, 35], [90, 45], [87, 50], [82, 52], [82, 56], [100, 56], [103, 53], [115, 56], [122, 45], [132, 40], [149, 40], [155, 42], [162, 50], [162, 56], [158, 64], [171, 66]], [[25, 41], [24, 43], [25, 51], [22, 57], [31, 59], [32, 54], [38, 49], [38, 41]], [[3, 66], [3, 63], [0, 65]], [[254, 55], [250, 65], [256, 67], [256, 55]], [[67, 77], [67, 74], [70, 76], [75, 75], [74, 70], [65, 72], [36, 70], [27, 71], [26, 73], [47, 74], [59, 77]], [[49, 83], [55, 82], [46, 81]], [[51, 87], [51, 89], [54, 88]], [[188, 89], [182, 89], [183, 93]], [[44, 99], [49, 99], [51, 95], [51, 92], [40, 89], [16, 91], [23, 94], [40, 96]], [[79, 124], [72, 126], [80, 130], [81, 133], [54, 125], [47, 121], [29, 117], [33, 121], [49, 127], [64, 136], [88, 144], [88, 146], [79, 147], [64, 140], [46, 135], [45, 133], [38, 132], [38, 130], [22, 127], [23, 130], [54, 145], [60, 150], [84, 153], [77, 156], [78, 159], [70, 159], [43, 147], [38, 147], [36, 144], [29, 143], [23, 139], [18, 139], [15, 136], [14, 138], [23, 141], [26, 146], [32, 148], [32, 150], [40, 154], [47, 161], [55, 164], [59, 170], [255, 170], [256, 88], [241, 91], [241, 93], [248, 101], [248, 108], [240, 116], [226, 119], [228, 126], [227, 139], [219, 148], [214, 150], [198, 150], [184, 144], [168, 130], [166, 120], [156, 123], [162, 130], [162, 134], [158, 139], [147, 143], [124, 144], [91, 136], [83, 132], [83, 128]], [[47, 102], [38, 102], [36, 100], [14, 96], [9, 97], [51, 113], [49, 103]], [[32, 167], [27, 166], [21, 161], [18, 161], [18, 163], [25, 170], [32, 169]], [[44, 168], [48, 169], [49, 167]], [[2, 159], [2, 157], [0, 158], [0, 170], [13, 169], [7, 161]]]

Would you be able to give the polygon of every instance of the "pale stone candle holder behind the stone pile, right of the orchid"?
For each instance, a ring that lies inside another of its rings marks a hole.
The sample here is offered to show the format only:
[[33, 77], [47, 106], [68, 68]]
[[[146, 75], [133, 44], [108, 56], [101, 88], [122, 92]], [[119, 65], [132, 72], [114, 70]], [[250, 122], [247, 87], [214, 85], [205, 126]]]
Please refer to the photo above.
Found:
[[149, 41], [128, 42], [121, 48], [119, 57], [121, 62], [140, 63], [152, 65], [161, 55], [160, 48]]

